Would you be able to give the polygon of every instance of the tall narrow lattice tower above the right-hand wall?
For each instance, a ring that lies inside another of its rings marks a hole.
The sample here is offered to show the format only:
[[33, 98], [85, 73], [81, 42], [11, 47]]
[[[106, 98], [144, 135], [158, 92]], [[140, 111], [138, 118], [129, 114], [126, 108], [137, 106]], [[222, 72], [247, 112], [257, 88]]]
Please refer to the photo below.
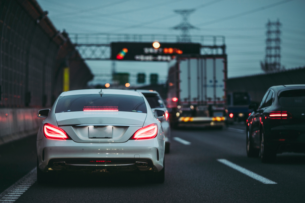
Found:
[[265, 72], [276, 72], [281, 70], [281, 30], [279, 19], [276, 22], [268, 20], [266, 24], [266, 55], [265, 63], [261, 63], [261, 68]]

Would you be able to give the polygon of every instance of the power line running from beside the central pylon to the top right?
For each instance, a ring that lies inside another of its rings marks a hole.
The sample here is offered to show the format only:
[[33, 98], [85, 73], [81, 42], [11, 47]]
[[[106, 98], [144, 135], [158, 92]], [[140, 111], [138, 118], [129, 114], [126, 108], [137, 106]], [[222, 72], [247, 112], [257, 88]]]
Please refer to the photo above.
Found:
[[277, 3], [274, 3], [274, 4], [263, 6], [263, 7], [253, 9], [253, 10], [250, 10], [250, 11], [241, 12], [239, 14], [235, 14], [235, 15], [232, 15], [232, 16], [227, 16], [227, 17], [211, 20], [211, 21], [208, 21], [208, 22], [205, 22], [205, 23], [199, 23], [196, 26], [206, 26], [206, 25], [211, 25], [211, 24], [219, 23], [219, 22], [226, 21], [226, 20], [231, 20], [231, 19], [238, 18], [238, 17], [241, 17], [241, 16], [246, 16], [246, 15], [249, 15], [249, 14], [252, 14], [252, 13], [255, 13], [255, 12], [263, 11], [265, 9], [270, 9], [274, 6], [278, 6], [278, 5], [281, 5], [281, 4], [284, 4], [284, 3], [287, 3], [287, 2], [291, 2], [291, 1], [293, 1], [293, 0], [285, 0], [285, 1], [277, 2]]

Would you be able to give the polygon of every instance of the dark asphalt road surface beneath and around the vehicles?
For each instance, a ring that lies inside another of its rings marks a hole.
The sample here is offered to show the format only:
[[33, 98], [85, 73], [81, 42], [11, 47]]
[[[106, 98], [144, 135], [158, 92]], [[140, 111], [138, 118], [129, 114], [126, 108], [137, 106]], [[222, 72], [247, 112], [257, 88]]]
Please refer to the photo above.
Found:
[[[187, 142], [172, 140], [164, 184], [146, 183], [143, 174], [77, 173], [48, 185], [35, 182], [15, 202], [305, 202], [303, 154], [278, 155], [271, 164], [247, 158], [242, 125], [172, 130], [172, 137]], [[0, 146], [0, 194], [36, 166], [35, 151], [35, 136]], [[217, 159], [276, 184], [264, 184]]]

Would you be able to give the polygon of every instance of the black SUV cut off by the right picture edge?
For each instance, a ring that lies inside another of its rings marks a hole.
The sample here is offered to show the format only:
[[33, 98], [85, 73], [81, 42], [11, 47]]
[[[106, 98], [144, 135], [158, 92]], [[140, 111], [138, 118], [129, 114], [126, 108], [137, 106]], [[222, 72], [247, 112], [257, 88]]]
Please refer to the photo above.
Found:
[[271, 162], [277, 153], [305, 153], [305, 85], [272, 86], [247, 119], [247, 155]]

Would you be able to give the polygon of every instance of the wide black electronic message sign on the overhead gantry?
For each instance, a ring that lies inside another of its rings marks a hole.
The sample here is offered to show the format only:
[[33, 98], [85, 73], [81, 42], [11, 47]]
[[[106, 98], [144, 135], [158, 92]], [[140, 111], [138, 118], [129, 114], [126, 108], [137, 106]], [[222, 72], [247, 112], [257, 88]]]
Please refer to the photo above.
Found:
[[200, 54], [200, 44], [186, 43], [111, 43], [111, 59], [118, 61], [170, 61], [180, 54]]

